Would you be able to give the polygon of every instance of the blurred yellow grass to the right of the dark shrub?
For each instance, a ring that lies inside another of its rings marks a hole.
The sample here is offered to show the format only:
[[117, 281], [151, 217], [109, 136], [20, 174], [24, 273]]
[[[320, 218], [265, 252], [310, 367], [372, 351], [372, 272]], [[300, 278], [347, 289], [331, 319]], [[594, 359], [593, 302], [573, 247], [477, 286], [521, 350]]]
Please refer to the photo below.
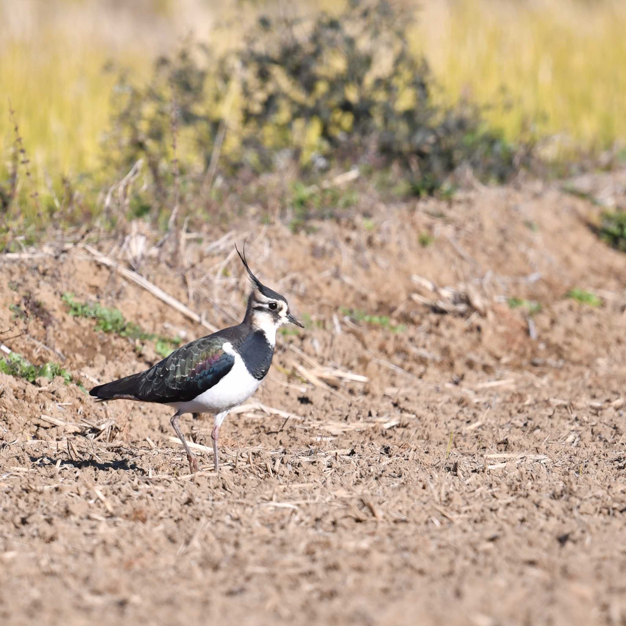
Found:
[[625, 32], [620, 0], [433, 1], [415, 44], [444, 98], [493, 105], [487, 118], [510, 140], [558, 134], [555, 156], [567, 156], [626, 138]]

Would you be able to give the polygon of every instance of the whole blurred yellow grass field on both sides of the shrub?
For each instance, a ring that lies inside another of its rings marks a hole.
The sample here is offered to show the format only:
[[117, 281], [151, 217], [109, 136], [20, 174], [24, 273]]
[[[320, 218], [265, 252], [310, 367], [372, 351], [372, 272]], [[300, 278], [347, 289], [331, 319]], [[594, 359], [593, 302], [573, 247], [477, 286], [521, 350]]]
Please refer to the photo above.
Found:
[[[408, 0], [404, 0], [408, 1]], [[411, 4], [414, 0], [411, 0]], [[329, 3], [325, 3], [327, 8]], [[417, 6], [417, 3], [415, 3]], [[218, 48], [272, 3], [208, 5], [165, 0], [131, 5], [0, 0], [0, 150], [14, 134], [9, 100], [40, 182], [98, 165], [110, 117], [113, 60], [147, 75], [156, 54], [193, 29]], [[548, 156], [597, 151], [626, 137], [626, 3], [621, 0], [426, 0], [413, 30], [443, 87], [493, 105], [506, 138], [557, 136]], [[335, 6], [338, 6], [335, 4]], [[300, 3], [300, 8], [310, 3]], [[228, 29], [212, 28], [219, 19]], [[506, 94], [506, 97], [504, 96]], [[510, 106], [503, 107], [507, 101]]]

